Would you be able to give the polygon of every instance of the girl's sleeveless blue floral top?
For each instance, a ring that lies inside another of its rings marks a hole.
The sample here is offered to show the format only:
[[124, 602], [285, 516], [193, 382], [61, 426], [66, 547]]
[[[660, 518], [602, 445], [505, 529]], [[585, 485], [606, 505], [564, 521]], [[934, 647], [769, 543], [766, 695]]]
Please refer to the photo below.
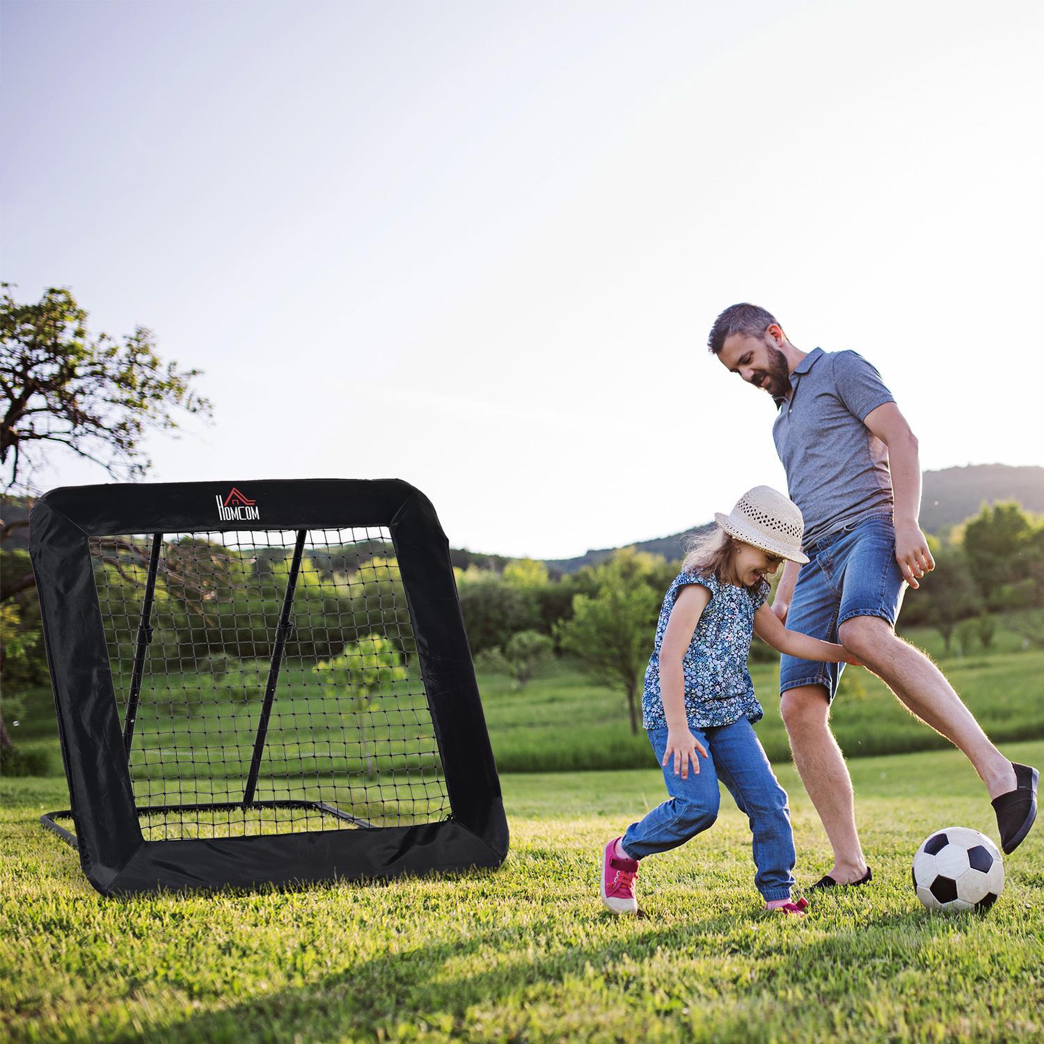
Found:
[[689, 725], [713, 729], [740, 718], [759, 720], [764, 711], [754, 694], [754, 682], [746, 667], [754, 637], [754, 614], [765, 603], [768, 582], [754, 589], [722, 584], [713, 573], [682, 572], [674, 577], [660, 610], [656, 645], [645, 668], [642, 693], [642, 727], [663, 729], [667, 718], [660, 696], [660, 645], [679, 591], [686, 584], [703, 584], [711, 600], [699, 616], [692, 641], [682, 660], [685, 714]]

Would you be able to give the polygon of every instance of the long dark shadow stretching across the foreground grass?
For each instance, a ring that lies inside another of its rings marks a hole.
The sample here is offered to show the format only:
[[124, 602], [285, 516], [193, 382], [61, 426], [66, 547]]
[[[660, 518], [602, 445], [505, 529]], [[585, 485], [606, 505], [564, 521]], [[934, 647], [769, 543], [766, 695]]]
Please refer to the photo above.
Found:
[[[604, 912], [604, 918], [618, 921]], [[597, 917], [597, 915], [595, 915]], [[283, 989], [271, 995], [250, 1000], [219, 1012], [205, 1012], [179, 1024], [164, 1026], [169, 1041], [261, 1041], [382, 1038], [399, 1024], [431, 1027], [450, 1035], [468, 1033], [469, 1011], [498, 1004], [512, 1006], [508, 1020], [523, 1024], [529, 1006], [523, 995], [533, 988], [561, 988], [569, 980], [594, 979], [601, 988], [619, 990], [636, 997], [643, 991], [642, 974], [636, 965], [662, 957], [658, 951], [677, 953], [705, 966], [703, 976], [719, 979], [719, 990], [737, 990], [748, 998], [759, 991], [770, 994], [791, 990], [796, 982], [813, 982], [821, 1002], [831, 996], [843, 997], [865, 987], [865, 972], [860, 967], [860, 950], [873, 953], [874, 928], [898, 931], [900, 948], [908, 948], [908, 964], [916, 952], [938, 935], [952, 931], [953, 918], [929, 918], [915, 911], [872, 919], [853, 928], [846, 926], [837, 934], [822, 933], [802, 939], [801, 925], [794, 934], [782, 938], [745, 933], [764, 919], [734, 915], [716, 916], [670, 928], [628, 928], [634, 920], [620, 922], [626, 938], [594, 946], [559, 945], [552, 921], [529, 925], [527, 930], [500, 930], [417, 947], [361, 962], [314, 982]], [[600, 918], [598, 919], [601, 920]], [[805, 925], [816, 927], [810, 918]], [[737, 927], [740, 933], [737, 938]], [[767, 928], [768, 925], [766, 924]], [[820, 924], [823, 928], [826, 925]], [[527, 941], [528, 940], [528, 941]], [[543, 943], [546, 951], [535, 951], [532, 943]], [[454, 965], [488, 954], [482, 969], [460, 974]], [[719, 971], [706, 970], [708, 959], [721, 960]], [[740, 974], [736, 960], [750, 960], [753, 975]], [[850, 966], [848, 969], [846, 966]], [[706, 984], [706, 983], [704, 983]], [[686, 991], [689, 986], [681, 983]], [[577, 1000], [586, 997], [580, 990]], [[677, 1004], [668, 1005], [677, 1007]], [[635, 1002], [636, 1019], [647, 1018], [649, 1004], [642, 996]], [[145, 1027], [146, 1035], [148, 1027]]]

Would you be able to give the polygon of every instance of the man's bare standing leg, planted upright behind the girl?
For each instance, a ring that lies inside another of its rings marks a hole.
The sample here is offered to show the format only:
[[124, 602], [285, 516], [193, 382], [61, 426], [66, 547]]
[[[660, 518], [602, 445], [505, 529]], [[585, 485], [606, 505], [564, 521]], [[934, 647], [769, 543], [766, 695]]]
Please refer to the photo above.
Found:
[[826, 686], [787, 689], [780, 701], [780, 712], [790, 738], [793, 763], [834, 850], [830, 876], [838, 884], [858, 881], [867, 873], [867, 860], [855, 828], [852, 779], [830, 731]]

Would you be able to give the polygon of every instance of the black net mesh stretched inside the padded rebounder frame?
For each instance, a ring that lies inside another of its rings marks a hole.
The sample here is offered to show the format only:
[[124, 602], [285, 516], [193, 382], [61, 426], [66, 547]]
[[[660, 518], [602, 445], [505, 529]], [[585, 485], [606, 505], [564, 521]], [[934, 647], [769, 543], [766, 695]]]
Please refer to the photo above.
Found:
[[151, 550], [150, 536], [91, 539], [147, 840], [450, 815], [384, 527], [165, 533], [144, 642]]

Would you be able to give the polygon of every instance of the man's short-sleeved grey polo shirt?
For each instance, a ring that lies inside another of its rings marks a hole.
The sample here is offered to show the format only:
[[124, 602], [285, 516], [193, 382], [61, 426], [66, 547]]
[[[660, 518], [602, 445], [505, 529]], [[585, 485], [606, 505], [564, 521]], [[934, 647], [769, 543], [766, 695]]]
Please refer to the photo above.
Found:
[[857, 352], [809, 352], [777, 399], [776, 452], [787, 495], [805, 517], [802, 550], [851, 522], [891, 513], [888, 448], [862, 423], [895, 402], [881, 375]]

